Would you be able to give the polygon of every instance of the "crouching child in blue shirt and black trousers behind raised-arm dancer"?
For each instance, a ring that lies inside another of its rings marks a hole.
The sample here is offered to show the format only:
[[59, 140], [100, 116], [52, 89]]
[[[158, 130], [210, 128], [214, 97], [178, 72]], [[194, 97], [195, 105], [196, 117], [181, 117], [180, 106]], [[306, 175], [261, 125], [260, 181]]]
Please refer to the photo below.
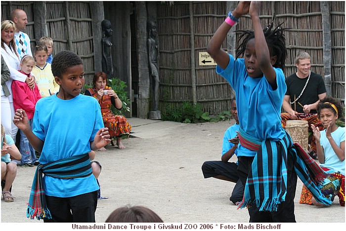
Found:
[[237, 131], [239, 131], [239, 120], [235, 97], [231, 100], [231, 114], [235, 119], [235, 124], [230, 126], [223, 136], [221, 160], [205, 161], [202, 165], [202, 172], [204, 178], [214, 177], [236, 183], [231, 197], [229, 197], [229, 200], [236, 204], [243, 199], [244, 186], [237, 173], [238, 161], [237, 163], [228, 162], [233, 154], [238, 153], [239, 138]]

